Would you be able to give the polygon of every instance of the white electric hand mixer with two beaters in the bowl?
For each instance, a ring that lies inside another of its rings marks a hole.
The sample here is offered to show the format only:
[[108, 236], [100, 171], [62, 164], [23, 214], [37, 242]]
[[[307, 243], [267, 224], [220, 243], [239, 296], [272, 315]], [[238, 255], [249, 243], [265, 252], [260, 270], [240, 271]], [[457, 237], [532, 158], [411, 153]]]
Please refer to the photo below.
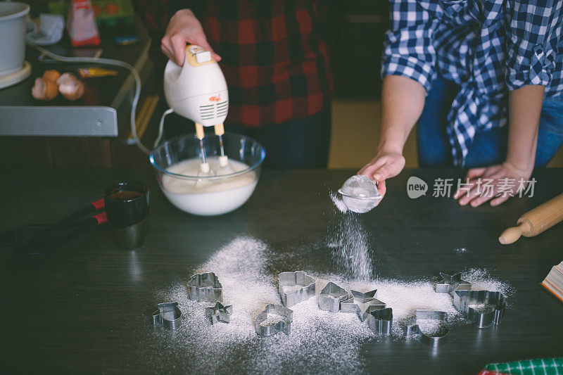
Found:
[[[198, 176], [213, 176], [235, 172], [224, 153], [224, 119], [229, 110], [227, 82], [210, 51], [200, 46], [186, 46], [186, 58], [181, 67], [168, 61], [164, 71], [164, 94], [170, 108], [196, 123], [196, 136], [200, 144], [201, 170]], [[205, 155], [204, 127], [215, 127], [219, 139], [219, 165], [213, 170]]]

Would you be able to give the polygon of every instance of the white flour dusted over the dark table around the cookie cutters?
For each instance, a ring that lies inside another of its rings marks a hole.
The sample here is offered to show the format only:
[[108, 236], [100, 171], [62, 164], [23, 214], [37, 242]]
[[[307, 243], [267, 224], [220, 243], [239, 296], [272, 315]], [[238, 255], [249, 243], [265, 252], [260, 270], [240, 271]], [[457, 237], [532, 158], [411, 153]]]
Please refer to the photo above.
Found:
[[[365, 371], [360, 357], [362, 344], [380, 340], [353, 313], [319, 310], [317, 297], [291, 307], [291, 334], [268, 338], [256, 336], [254, 318], [269, 303], [281, 304], [277, 275], [267, 272], [273, 254], [265, 243], [239, 237], [213, 254], [198, 272], [215, 272], [222, 284], [223, 303], [233, 305], [230, 323], [211, 325], [203, 307], [210, 303], [188, 300], [186, 285], [158, 293], [156, 300], [175, 300], [182, 310], [182, 325], [176, 331], [151, 330], [152, 362], [177, 371], [246, 371], [252, 373], [301, 373]], [[287, 269], [287, 271], [293, 271]], [[377, 288], [377, 298], [393, 308], [393, 338], [401, 340], [403, 324], [417, 309], [442, 310], [454, 322], [462, 322], [450, 295], [434, 293], [430, 280], [405, 283], [397, 280], [365, 281], [308, 272], [317, 279], [317, 293], [334, 281], [349, 290]], [[191, 274], [189, 275], [191, 276]], [[486, 271], [474, 269], [464, 277], [475, 288], [507, 291], [507, 285], [491, 280]], [[156, 337], [154, 337], [156, 336]], [[157, 369], [158, 370], [158, 369]]]

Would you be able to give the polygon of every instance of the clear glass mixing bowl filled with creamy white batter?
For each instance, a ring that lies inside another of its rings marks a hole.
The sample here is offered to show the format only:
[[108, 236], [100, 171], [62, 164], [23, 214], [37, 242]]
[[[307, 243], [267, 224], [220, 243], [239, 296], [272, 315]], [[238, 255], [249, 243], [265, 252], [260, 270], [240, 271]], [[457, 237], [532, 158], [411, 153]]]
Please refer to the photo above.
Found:
[[206, 134], [203, 148], [215, 175], [200, 172], [200, 144], [195, 134], [177, 136], [157, 146], [149, 158], [160, 189], [168, 201], [194, 215], [222, 215], [236, 210], [251, 197], [266, 151], [241, 134], [223, 135], [229, 167], [220, 168], [219, 137]]

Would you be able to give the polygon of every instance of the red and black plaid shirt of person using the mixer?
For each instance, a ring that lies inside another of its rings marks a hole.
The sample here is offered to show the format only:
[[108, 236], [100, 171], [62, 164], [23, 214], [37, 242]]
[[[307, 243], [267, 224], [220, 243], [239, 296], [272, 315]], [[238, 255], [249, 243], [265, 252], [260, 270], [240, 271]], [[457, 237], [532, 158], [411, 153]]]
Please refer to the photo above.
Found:
[[327, 105], [332, 77], [317, 27], [319, 5], [315, 0], [137, 2], [156, 30], [165, 30], [179, 9], [194, 11], [222, 57], [227, 123], [252, 127], [308, 117]]

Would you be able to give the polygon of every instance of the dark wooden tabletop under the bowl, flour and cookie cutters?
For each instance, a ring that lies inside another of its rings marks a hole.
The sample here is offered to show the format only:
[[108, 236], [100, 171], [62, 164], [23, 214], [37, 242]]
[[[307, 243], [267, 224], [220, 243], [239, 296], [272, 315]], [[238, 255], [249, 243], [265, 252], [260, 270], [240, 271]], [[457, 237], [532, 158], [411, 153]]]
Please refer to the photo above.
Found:
[[[151, 343], [132, 334], [151, 329], [154, 291], [186, 279], [189, 269], [241, 234], [284, 251], [324, 236], [334, 216], [327, 192], [352, 172], [263, 171], [251, 200], [220, 217], [194, 217], [175, 209], [148, 171], [4, 172], [2, 229], [56, 220], [101, 196], [113, 179], [147, 182], [152, 201], [151, 230], [138, 251], [120, 250], [107, 227], [72, 239], [41, 265], [23, 265], [1, 251], [1, 366], [20, 371], [189, 371], [155, 367], [145, 355]], [[411, 200], [405, 186], [412, 175], [430, 185], [436, 177], [461, 177], [454, 170], [405, 170], [388, 182], [379, 208], [362, 216], [376, 239], [380, 276], [415, 279], [482, 267], [509, 281], [516, 293], [498, 329], [456, 327], [437, 351], [422, 344], [369, 342], [362, 348], [365, 369], [476, 374], [488, 362], [562, 356], [563, 305], [539, 283], [563, 259], [563, 224], [512, 246], [500, 245], [497, 238], [526, 210], [563, 191], [563, 170], [536, 172], [533, 198], [514, 198], [498, 208], [461, 208], [453, 199], [431, 193]], [[460, 246], [468, 249], [462, 256], [453, 251]], [[314, 267], [314, 255], [307, 262], [313, 264], [303, 267]]]

